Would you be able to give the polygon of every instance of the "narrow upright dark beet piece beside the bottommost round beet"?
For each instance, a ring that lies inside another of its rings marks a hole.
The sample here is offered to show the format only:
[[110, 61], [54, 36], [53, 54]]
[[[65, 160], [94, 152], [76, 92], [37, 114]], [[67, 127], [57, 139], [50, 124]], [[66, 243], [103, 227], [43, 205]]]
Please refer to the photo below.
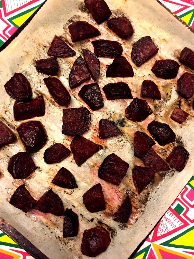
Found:
[[72, 238], [77, 236], [79, 228], [78, 215], [72, 209], [66, 208], [63, 221], [63, 237]]

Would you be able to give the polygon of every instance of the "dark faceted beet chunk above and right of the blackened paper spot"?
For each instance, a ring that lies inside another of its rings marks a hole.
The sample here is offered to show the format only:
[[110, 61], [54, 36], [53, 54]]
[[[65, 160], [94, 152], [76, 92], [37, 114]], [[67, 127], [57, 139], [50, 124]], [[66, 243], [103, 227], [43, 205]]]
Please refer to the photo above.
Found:
[[126, 118], [131, 121], [143, 121], [150, 114], [152, 114], [152, 110], [150, 109], [147, 101], [137, 97], [133, 99], [130, 105], [125, 109]]

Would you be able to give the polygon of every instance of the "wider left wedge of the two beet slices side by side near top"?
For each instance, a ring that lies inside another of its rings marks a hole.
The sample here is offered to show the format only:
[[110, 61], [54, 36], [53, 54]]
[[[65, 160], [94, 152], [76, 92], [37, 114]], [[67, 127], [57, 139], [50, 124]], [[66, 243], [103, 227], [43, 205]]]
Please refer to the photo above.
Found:
[[80, 84], [90, 79], [86, 64], [81, 56], [79, 56], [73, 63], [72, 69], [69, 73], [69, 87], [70, 89], [78, 87]]

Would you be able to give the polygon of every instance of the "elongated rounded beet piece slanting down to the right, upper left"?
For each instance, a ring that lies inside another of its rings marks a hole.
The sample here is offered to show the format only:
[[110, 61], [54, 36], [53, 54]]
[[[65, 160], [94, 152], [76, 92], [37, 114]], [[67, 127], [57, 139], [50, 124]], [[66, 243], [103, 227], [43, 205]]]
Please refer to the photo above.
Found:
[[65, 106], [70, 102], [71, 96], [58, 78], [47, 77], [43, 80], [56, 103]]

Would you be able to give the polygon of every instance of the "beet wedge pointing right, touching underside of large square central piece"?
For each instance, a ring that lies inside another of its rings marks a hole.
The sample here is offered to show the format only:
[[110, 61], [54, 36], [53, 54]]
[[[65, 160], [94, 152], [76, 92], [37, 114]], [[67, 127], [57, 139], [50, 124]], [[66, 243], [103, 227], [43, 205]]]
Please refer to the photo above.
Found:
[[81, 166], [89, 157], [101, 150], [102, 146], [81, 136], [75, 136], [71, 141], [70, 148], [76, 164]]

